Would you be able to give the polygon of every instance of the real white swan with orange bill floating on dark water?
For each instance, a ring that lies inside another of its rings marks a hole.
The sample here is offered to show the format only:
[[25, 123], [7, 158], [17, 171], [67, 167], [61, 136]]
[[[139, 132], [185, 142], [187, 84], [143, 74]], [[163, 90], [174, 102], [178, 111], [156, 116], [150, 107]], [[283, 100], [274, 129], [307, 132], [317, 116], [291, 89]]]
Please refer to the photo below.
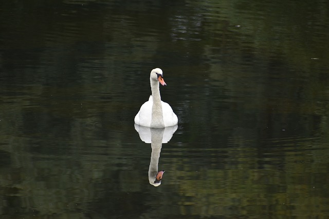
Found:
[[164, 128], [174, 126], [178, 122], [177, 115], [173, 112], [171, 106], [161, 101], [159, 82], [162, 86], [167, 86], [163, 81], [162, 70], [155, 68], [150, 75], [152, 95], [148, 102], [145, 102], [137, 115], [135, 123], [140, 126], [150, 128]]

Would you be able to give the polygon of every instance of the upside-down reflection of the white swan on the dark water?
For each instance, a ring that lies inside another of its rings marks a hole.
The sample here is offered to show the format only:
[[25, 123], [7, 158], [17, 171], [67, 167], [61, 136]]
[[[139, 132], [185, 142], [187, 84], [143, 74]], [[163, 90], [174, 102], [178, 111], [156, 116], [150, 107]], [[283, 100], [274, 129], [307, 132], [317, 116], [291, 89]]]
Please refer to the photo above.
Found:
[[135, 124], [135, 129], [143, 142], [151, 143], [152, 153], [149, 167], [149, 181], [151, 185], [159, 186], [161, 184], [162, 175], [165, 172], [165, 170], [158, 170], [162, 143], [168, 143], [171, 140], [174, 132], [177, 130], [177, 125], [154, 129]]

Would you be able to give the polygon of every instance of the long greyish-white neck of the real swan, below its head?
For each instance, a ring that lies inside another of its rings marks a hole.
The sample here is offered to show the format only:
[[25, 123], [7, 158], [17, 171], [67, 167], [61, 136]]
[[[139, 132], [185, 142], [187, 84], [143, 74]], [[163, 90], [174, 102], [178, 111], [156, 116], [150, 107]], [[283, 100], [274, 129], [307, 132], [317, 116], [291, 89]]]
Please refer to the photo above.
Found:
[[153, 98], [151, 128], [163, 128], [165, 123], [163, 122], [159, 82], [152, 79], [150, 81]]

